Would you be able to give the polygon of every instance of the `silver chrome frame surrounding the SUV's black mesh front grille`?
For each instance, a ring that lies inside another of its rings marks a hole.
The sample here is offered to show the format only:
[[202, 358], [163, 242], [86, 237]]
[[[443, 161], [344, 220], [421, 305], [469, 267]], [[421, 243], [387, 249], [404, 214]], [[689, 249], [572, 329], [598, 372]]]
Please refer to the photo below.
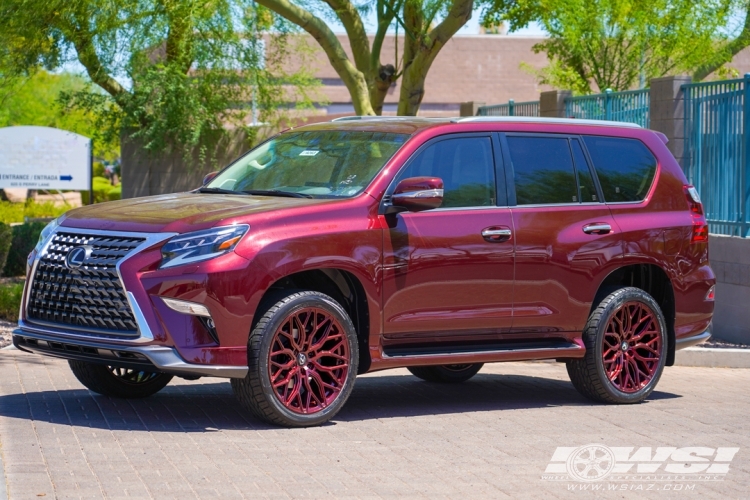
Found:
[[[34, 283], [34, 279], [36, 278], [36, 270], [39, 265], [39, 261], [41, 258], [47, 254], [47, 248], [52, 243], [52, 240], [54, 239], [55, 235], [58, 233], [77, 233], [77, 234], [84, 234], [84, 235], [91, 235], [91, 236], [111, 236], [113, 238], [143, 238], [143, 242], [141, 242], [137, 247], [133, 248], [130, 252], [126, 253], [122, 259], [117, 263], [115, 266], [115, 270], [117, 271], [117, 277], [120, 280], [120, 284], [122, 285], [122, 289], [125, 291], [125, 296], [128, 299], [128, 303], [130, 304], [130, 308], [133, 311], [133, 317], [135, 318], [135, 322], [138, 325], [138, 333], [140, 334], [137, 338], [133, 339], [116, 339], [116, 338], [109, 338], [104, 336], [96, 336], [96, 335], [78, 335], [75, 333], [68, 333], [65, 330], [65, 328], [61, 327], [62, 332], [58, 331], [51, 331], [51, 330], [39, 330], [38, 327], [36, 327], [33, 323], [29, 323], [27, 318], [29, 316], [29, 298], [31, 296], [31, 287]], [[54, 335], [59, 335], [61, 337], [69, 337], [69, 338], [76, 338], [76, 339], [101, 339], [103, 341], [107, 342], [124, 342], [124, 343], [137, 343], [137, 342], [150, 342], [154, 340], [154, 334], [151, 331], [151, 328], [148, 326], [148, 322], [146, 321], [146, 317], [143, 315], [143, 311], [140, 308], [140, 305], [138, 304], [138, 301], [135, 299], [135, 296], [132, 292], [130, 292], [125, 287], [125, 281], [122, 279], [122, 271], [120, 269], [120, 266], [123, 262], [133, 257], [133, 255], [140, 253], [141, 251], [145, 250], [146, 248], [149, 248], [153, 245], [156, 245], [157, 243], [160, 243], [162, 241], [165, 241], [169, 238], [172, 238], [173, 236], [176, 236], [179, 233], [140, 233], [140, 232], [131, 232], [131, 231], [107, 231], [107, 230], [100, 230], [100, 229], [82, 229], [77, 227], [69, 227], [69, 226], [58, 226], [55, 228], [55, 231], [50, 235], [49, 239], [44, 243], [44, 246], [39, 251], [39, 253], [34, 257], [34, 262], [31, 266], [31, 272], [29, 274], [29, 278], [26, 281], [26, 289], [23, 294], [23, 300], [25, 301], [25, 308], [24, 308], [24, 315], [19, 318], [18, 324], [24, 329], [29, 330], [35, 330], [40, 331], [43, 333], [49, 333]]]

